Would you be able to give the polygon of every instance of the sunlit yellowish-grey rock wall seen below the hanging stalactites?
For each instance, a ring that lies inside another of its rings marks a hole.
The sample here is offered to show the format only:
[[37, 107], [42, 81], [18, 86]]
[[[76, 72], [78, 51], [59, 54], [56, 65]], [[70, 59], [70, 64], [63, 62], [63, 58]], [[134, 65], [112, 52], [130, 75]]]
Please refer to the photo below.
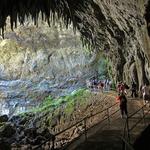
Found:
[[8, 32], [5, 38], [0, 43], [2, 79], [48, 79], [56, 84], [91, 75], [96, 55], [83, 50], [79, 34], [71, 28], [29, 25]]

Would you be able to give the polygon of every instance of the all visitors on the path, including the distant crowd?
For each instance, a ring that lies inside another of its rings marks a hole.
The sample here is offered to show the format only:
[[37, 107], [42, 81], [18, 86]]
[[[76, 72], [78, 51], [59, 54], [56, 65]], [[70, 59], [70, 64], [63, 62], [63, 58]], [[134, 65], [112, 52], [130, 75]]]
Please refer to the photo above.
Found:
[[[86, 83], [88, 88], [92, 88], [94, 90], [98, 89], [101, 92], [103, 92], [104, 90], [109, 91], [111, 88], [111, 80], [109, 79], [99, 81], [94, 77], [91, 80], [87, 80]], [[130, 87], [125, 82], [119, 82], [117, 85], [118, 95], [116, 97], [116, 100], [119, 101], [122, 118], [128, 116], [127, 95], [129, 95], [129, 91], [132, 98], [137, 98], [138, 96], [140, 96], [141, 98], [143, 98], [144, 103], [146, 103], [146, 101], [150, 101], [149, 85], [142, 85], [138, 92], [138, 86], [136, 82], [132, 81]]]

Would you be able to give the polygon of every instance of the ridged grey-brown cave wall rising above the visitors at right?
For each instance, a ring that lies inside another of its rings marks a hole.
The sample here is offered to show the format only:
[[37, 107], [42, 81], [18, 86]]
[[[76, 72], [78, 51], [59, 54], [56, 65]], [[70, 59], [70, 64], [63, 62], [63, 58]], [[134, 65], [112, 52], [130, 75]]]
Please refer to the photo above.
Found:
[[126, 80], [130, 84], [134, 80], [139, 86], [149, 83], [150, 39], [144, 17], [147, 2], [94, 0], [87, 14], [91, 18], [83, 23], [84, 29], [90, 24], [86, 34], [94, 35], [96, 49], [112, 62], [116, 82]]

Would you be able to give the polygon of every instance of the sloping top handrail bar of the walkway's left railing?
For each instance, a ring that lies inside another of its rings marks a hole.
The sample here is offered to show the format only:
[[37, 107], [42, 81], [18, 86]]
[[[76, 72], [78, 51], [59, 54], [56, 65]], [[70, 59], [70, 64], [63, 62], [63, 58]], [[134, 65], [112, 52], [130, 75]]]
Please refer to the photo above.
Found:
[[[119, 103], [119, 102], [117, 102], [117, 103], [115, 103], [115, 104], [113, 104], [113, 105], [111, 105], [111, 106], [105, 108], [104, 110], [102, 110], [102, 111], [100, 111], [100, 112], [97, 112], [97, 113], [95, 113], [95, 114], [90, 114], [89, 116], [84, 117], [83, 119], [81, 119], [80, 121], [77, 121], [75, 124], [71, 125], [70, 127], [68, 127], [68, 128], [66, 128], [66, 129], [60, 131], [59, 133], [54, 134], [53, 137], [50, 137], [49, 139], [47, 139], [46, 141], [44, 141], [43, 143], [41, 143], [41, 144], [38, 145], [37, 147], [34, 147], [33, 150], [36, 150], [36, 149], [40, 148], [42, 145], [45, 145], [47, 142], [50, 142], [50, 141], [51, 141], [51, 142], [54, 142], [56, 136], [58, 136], [58, 135], [64, 133], [65, 131], [71, 129], [72, 127], [76, 126], [77, 124], [79, 124], [79, 123], [81, 123], [81, 122], [83, 122], [83, 121], [85, 121], [85, 120], [87, 120], [87, 119], [89, 119], [89, 118], [92, 118], [92, 117], [96, 116], [97, 114], [101, 114], [101, 113], [103, 113], [103, 112], [109, 110], [110, 108], [116, 106], [118, 103]], [[119, 111], [119, 109], [118, 109], [116, 112], [118, 112], [118, 111]], [[116, 113], [116, 112], [115, 112], [115, 113]], [[113, 113], [113, 114], [108, 114], [109, 116], [108, 116], [107, 118], [101, 120], [100, 122], [102, 123], [104, 120], [108, 119], [110, 116], [114, 115], [115, 113]], [[107, 115], [105, 115], [105, 116], [107, 116]], [[54, 143], [53, 143], [53, 144], [54, 144]]]

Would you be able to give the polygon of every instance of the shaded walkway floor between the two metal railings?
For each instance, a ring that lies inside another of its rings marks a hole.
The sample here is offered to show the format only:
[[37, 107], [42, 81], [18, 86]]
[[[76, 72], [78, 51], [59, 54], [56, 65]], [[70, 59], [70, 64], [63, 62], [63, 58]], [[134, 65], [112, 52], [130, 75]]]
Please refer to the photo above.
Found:
[[[129, 99], [129, 116], [140, 109], [142, 106], [142, 100]], [[132, 127], [142, 116], [142, 111], [139, 111], [136, 115], [134, 115], [134, 117], [129, 120], [129, 128]], [[120, 137], [122, 137], [124, 134], [123, 131], [125, 121], [126, 119], [121, 119], [120, 116], [117, 116], [110, 125], [107, 125], [103, 129], [98, 130], [96, 134], [89, 137], [84, 143], [81, 143], [77, 147], [73, 146], [75, 147], [73, 150], [122, 150], [123, 142]], [[148, 123], [149, 121], [150, 118], [147, 118], [145, 122], [142, 120], [141, 123], [138, 124], [132, 132], [130, 132], [131, 143], [133, 143], [140, 132], [144, 130], [146, 127], [145, 125], [148, 125], [146, 122]], [[70, 146], [68, 150], [72, 150], [72, 146]], [[132, 148], [130, 150], [132, 150]]]

